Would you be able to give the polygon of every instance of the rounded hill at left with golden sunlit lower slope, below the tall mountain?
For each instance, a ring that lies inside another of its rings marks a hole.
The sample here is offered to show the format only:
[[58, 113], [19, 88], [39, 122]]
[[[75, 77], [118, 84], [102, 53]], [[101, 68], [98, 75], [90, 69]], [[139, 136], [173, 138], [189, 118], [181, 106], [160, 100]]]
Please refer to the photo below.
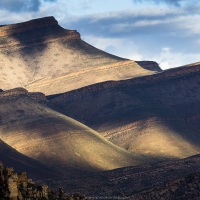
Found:
[[0, 138], [18, 152], [64, 172], [110, 170], [151, 161], [33, 98], [34, 93], [23, 88], [0, 93]]

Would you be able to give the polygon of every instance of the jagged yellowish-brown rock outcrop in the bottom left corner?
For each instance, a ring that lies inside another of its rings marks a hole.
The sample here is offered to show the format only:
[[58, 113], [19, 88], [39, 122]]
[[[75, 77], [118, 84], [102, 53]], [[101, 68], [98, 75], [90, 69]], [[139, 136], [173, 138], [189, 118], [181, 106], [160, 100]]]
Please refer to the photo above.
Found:
[[84, 200], [85, 195], [66, 195], [62, 188], [56, 191], [47, 185], [39, 185], [28, 178], [26, 172], [15, 173], [0, 162], [0, 199], [2, 200]]

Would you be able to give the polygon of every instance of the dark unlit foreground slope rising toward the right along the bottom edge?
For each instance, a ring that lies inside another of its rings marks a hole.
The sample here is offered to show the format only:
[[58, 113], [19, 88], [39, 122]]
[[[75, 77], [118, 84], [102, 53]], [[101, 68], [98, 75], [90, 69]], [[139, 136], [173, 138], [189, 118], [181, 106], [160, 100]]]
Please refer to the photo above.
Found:
[[[51, 187], [63, 186], [67, 193], [80, 192], [88, 197], [95, 198], [153, 199], [151, 197], [154, 197], [161, 199], [165, 197], [164, 199], [173, 199], [167, 198], [168, 196], [163, 194], [172, 197], [178, 191], [180, 195], [181, 190], [182, 195], [185, 195], [187, 190], [184, 191], [183, 188], [177, 190], [180, 182], [185, 184], [185, 188], [188, 187], [188, 191], [190, 188], [190, 195], [199, 194], [199, 167], [200, 156], [196, 155], [176, 161], [126, 167], [99, 172], [90, 176], [74, 177], [71, 180], [63, 179], [48, 181], [47, 183]], [[191, 175], [193, 173], [196, 174]], [[187, 176], [189, 176], [189, 181]], [[173, 187], [173, 184], [175, 187]], [[158, 196], [155, 194], [158, 194]]]

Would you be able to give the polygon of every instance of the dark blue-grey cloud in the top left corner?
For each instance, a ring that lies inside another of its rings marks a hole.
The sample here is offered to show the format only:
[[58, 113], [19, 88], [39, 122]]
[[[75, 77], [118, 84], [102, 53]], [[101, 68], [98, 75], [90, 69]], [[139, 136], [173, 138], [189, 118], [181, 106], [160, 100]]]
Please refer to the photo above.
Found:
[[3, 0], [0, 3], [0, 9], [11, 12], [28, 12], [39, 10], [40, 5], [40, 0]]

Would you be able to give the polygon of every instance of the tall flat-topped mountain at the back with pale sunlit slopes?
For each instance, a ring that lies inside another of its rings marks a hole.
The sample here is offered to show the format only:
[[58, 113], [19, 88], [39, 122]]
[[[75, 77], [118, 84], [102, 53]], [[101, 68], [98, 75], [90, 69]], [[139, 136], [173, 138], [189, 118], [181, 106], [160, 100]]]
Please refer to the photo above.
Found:
[[48, 95], [161, 71], [157, 63], [136, 63], [87, 44], [54, 17], [1, 26], [0, 60], [2, 89], [25, 87]]

